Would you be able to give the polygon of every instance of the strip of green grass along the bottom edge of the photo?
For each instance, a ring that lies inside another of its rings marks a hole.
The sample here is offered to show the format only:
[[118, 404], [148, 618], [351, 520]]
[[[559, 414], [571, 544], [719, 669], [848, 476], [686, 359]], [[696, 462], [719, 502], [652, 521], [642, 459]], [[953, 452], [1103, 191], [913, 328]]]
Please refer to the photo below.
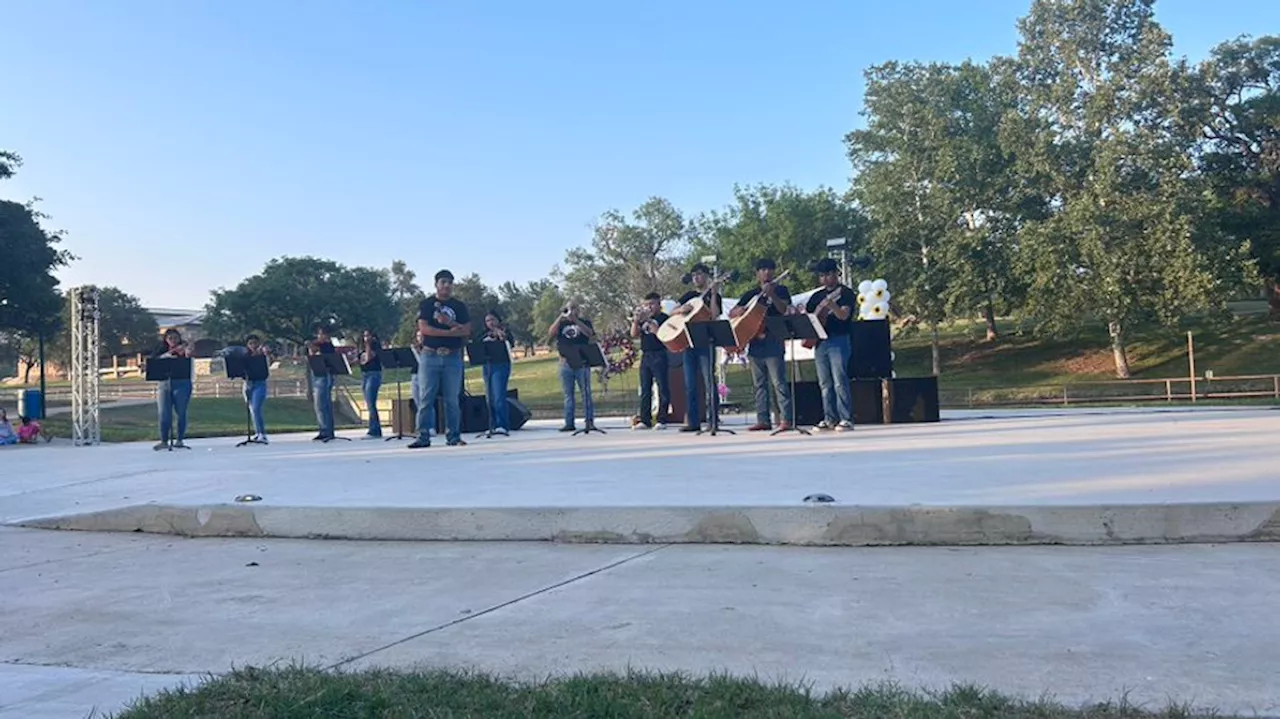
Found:
[[803, 686], [678, 674], [595, 674], [509, 683], [483, 674], [241, 669], [196, 690], [140, 700], [118, 719], [265, 718], [901, 718], [1138, 719], [1206, 716], [1181, 707], [1144, 711], [1126, 702], [1068, 709], [975, 687], [909, 692], [891, 684], [828, 695]]

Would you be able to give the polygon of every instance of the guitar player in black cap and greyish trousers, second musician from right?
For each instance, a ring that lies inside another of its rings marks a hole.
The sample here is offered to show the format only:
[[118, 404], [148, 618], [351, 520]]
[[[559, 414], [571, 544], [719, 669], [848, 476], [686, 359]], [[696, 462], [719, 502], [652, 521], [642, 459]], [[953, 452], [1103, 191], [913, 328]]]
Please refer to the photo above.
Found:
[[[768, 257], [756, 260], [755, 279], [759, 287], [753, 288], [737, 301], [737, 306], [730, 311], [730, 317], [737, 317], [746, 312], [748, 303], [756, 296], [762, 296], [760, 301], [768, 306], [765, 316], [780, 316], [788, 312], [791, 292], [786, 285], [773, 281], [777, 265]], [[773, 394], [778, 399], [778, 409], [781, 411], [778, 427], [791, 429], [791, 386], [787, 384], [786, 352], [782, 340], [768, 335], [756, 336], [748, 344], [748, 360], [751, 365], [751, 384], [755, 385], [755, 423], [748, 430], [758, 432], [772, 429], [769, 385], [773, 385]]]

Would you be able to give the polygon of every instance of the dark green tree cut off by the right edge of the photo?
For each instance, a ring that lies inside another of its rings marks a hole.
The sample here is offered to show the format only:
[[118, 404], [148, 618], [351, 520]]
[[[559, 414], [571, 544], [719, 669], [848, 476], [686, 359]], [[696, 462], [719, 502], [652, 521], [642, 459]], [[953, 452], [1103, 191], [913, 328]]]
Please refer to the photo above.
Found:
[[1280, 37], [1224, 42], [1193, 77], [1212, 217], [1225, 239], [1249, 243], [1280, 319]]

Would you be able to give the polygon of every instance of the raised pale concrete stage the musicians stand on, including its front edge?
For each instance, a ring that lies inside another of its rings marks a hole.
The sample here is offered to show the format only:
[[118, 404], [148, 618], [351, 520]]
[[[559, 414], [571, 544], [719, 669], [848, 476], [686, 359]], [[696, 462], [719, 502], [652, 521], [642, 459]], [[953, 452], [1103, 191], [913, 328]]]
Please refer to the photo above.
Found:
[[[270, 406], [268, 406], [270, 412]], [[270, 413], [268, 413], [270, 420]], [[0, 449], [0, 523], [191, 536], [602, 542], [1280, 540], [1280, 411], [950, 412], [803, 436], [274, 438]], [[358, 432], [348, 432], [358, 436]], [[824, 493], [833, 504], [805, 504]], [[242, 494], [262, 500], [237, 504]]]

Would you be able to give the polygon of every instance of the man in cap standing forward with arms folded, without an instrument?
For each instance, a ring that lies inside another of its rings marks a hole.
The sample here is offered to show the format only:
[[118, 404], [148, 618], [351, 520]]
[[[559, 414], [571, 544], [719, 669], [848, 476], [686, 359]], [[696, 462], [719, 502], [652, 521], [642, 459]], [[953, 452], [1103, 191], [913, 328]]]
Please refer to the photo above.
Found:
[[419, 383], [422, 395], [417, 404], [417, 440], [410, 449], [431, 446], [435, 426], [435, 398], [444, 395], [444, 443], [462, 446], [462, 343], [471, 336], [471, 315], [453, 297], [453, 273], [435, 273], [435, 294], [419, 306], [417, 330], [422, 333]]

